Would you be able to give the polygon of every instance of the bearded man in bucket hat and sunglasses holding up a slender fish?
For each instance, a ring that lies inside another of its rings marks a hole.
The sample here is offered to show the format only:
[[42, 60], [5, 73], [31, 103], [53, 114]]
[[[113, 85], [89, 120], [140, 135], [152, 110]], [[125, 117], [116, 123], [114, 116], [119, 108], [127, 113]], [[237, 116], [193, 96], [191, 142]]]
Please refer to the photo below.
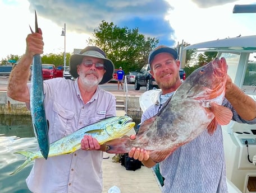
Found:
[[[29, 34], [26, 53], [13, 68], [8, 96], [30, 102], [27, 83], [33, 55], [43, 53], [42, 33]], [[53, 78], [44, 81], [45, 114], [49, 120], [50, 143], [100, 119], [116, 115], [116, 99], [99, 88], [113, 77], [114, 65], [103, 50], [88, 46], [70, 58], [70, 73], [75, 81]], [[85, 135], [81, 149], [63, 156], [36, 159], [26, 183], [32, 192], [102, 193], [103, 152], [96, 139]]]

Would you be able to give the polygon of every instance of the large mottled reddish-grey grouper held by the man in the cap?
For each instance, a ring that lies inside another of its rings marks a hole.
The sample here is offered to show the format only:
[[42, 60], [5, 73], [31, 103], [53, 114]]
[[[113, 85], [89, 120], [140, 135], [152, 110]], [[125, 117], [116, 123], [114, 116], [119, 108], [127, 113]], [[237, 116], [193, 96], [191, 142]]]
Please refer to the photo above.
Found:
[[132, 147], [149, 150], [155, 162], [166, 159], [176, 148], [205, 129], [213, 134], [217, 124], [226, 125], [232, 112], [221, 106], [225, 96], [227, 64], [225, 58], [196, 69], [164, 103], [161, 111], [145, 120], [136, 134], [107, 143], [108, 153], [127, 153]]

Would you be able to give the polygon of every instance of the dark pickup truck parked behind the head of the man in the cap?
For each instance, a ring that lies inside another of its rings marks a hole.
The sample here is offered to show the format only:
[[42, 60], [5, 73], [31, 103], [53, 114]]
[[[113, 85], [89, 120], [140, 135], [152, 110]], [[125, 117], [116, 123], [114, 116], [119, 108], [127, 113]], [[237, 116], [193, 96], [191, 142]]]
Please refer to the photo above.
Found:
[[[186, 73], [182, 69], [180, 69], [180, 79], [181, 81], [185, 81], [186, 79]], [[150, 74], [149, 64], [145, 64], [135, 76], [134, 88], [138, 91], [140, 90], [140, 87], [146, 87], [147, 91], [152, 90], [153, 88], [158, 88], [157, 82], [152, 74]]]

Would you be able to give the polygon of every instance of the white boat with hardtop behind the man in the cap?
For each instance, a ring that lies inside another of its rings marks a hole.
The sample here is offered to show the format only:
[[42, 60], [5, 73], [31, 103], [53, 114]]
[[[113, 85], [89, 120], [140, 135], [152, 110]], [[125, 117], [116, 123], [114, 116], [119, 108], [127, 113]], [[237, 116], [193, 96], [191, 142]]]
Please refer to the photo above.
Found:
[[[186, 50], [190, 49], [217, 51], [218, 58], [225, 57], [228, 75], [232, 81], [256, 100], [256, 35], [190, 45], [180, 55], [185, 55]], [[140, 107], [143, 111], [156, 101], [158, 92], [159, 90], [150, 90], [141, 95]], [[228, 191], [256, 193], [256, 166], [250, 162], [254, 156], [256, 159], [256, 125], [231, 121], [230, 124], [222, 126], [222, 129]]]

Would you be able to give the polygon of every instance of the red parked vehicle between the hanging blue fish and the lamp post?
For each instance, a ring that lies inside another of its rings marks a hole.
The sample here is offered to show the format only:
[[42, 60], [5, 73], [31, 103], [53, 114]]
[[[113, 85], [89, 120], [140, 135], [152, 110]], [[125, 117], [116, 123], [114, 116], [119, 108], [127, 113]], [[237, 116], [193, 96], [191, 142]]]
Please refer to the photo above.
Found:
[[43, 79], [63, 77], [63, 67], [55, 67], [53, 64], [42, 64]]

